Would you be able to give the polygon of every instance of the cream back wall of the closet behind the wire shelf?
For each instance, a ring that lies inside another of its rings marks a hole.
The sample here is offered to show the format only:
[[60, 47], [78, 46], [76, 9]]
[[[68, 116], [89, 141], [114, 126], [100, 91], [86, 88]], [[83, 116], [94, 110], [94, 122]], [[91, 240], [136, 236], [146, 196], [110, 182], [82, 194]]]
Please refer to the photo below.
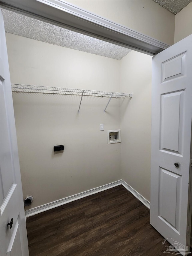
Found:
[[[119, 61], [6, 34], [11, 83], [119, 91]], [[121, 179], [120, 100], [13, 93], [23, 195], [31, 208]], [[104, 123], [105, 131], [100, 131]], [[63, 153], [53, 152], [64, 144]], [[28, 208], [29, 209], [29, 208]]]

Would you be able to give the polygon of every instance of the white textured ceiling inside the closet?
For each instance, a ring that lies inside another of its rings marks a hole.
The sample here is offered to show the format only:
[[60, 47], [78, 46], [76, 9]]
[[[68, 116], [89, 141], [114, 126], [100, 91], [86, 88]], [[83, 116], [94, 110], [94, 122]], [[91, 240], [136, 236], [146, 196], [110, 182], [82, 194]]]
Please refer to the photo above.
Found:
[[112, 59], [131, 50], [3, 9], [5, 32]]

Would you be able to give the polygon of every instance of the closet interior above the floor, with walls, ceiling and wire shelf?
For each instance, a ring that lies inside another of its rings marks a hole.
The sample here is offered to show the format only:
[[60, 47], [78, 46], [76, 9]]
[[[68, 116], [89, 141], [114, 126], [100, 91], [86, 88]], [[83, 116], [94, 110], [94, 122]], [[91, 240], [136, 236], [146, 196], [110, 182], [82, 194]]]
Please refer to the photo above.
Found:
[[26, 215], [122, 180], [149, 203], [152, 56], [3, 14]]

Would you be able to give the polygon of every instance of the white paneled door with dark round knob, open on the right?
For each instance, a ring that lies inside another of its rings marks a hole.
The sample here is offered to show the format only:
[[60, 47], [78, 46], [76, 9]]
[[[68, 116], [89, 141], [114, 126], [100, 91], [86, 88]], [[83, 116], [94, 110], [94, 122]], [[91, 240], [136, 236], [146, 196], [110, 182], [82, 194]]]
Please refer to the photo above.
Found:
[[151, 224], [182, 245], [190, 234], [191, 42], [192, 35], [152, 60]]

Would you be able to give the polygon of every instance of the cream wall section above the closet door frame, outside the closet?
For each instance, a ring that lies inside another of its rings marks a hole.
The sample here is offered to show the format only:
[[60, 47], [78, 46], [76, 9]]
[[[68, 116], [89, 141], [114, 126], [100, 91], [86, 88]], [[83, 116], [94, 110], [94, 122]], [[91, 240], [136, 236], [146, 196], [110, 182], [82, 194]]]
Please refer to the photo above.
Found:
[[174, 44], [175, 15], [152, 0], [67, 0], [166, 44]]

